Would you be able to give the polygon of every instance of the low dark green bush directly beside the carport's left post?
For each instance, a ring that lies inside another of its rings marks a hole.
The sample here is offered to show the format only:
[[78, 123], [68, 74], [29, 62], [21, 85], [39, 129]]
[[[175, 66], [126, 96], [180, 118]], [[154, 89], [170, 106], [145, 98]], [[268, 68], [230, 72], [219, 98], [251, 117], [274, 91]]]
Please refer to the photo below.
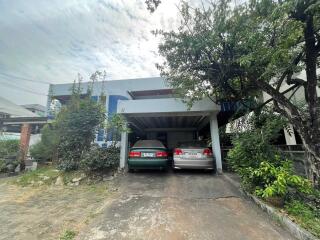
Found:
[[114, 170], [119, 166], [120, 149], [115, 146], [101, 148], [93, 145], [84, 154], [80, 167], [85, 171], [106, 171]]

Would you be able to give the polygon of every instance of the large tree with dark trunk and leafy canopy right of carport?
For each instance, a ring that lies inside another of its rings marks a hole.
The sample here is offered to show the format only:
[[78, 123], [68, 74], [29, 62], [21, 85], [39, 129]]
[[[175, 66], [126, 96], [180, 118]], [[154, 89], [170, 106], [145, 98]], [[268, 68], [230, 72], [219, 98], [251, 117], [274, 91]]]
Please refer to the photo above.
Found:
[[[177, 31], [163, 37], [158, 65], [177, 93], [194, 101], [257, 100], [269, 94], [274, 110], [299, 132], [309, 153], [310, 178], [320, 175], [320, 2], [250, 0], [232, 5], [219, 0], [193, 8], [183, 2]], [[306, 71], [306, 79], [296, 77]], [[281, 90], [286, 83], [289, 88]], [[292, 101], [304, 89], [306, 108]]]

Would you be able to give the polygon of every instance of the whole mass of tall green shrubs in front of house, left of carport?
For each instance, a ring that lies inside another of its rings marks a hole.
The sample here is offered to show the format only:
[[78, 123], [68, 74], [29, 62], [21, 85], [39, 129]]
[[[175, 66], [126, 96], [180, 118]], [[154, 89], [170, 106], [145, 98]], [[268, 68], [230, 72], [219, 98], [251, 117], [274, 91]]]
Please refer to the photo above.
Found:
[[[42, 129], [41, 142], [31, 149], [31, 156], [38, 161], [58, 160], [58, 168], [64, 171], [77, 170], [102, 171], [114, 169], [119, 161], [119, 149], [110, 147], [101, 149], [92, 146], [98, 129], [108, 128], [117, 138], [120, 131], [129, 131], [120, 114], [108, 119], [103, 102], [92, 98], [93, 85], [96, 79], [105, 77], [105, 73], [96, 72], [91, 76], [87, 93], [81, 89], [79, 82], [74, 83], [72, 95], [66, 106], [62, 107], [54, 122]], [[100, 99], [104, 99], [101, 93]], [[117, 140], [117, 139], [115, 139]]]

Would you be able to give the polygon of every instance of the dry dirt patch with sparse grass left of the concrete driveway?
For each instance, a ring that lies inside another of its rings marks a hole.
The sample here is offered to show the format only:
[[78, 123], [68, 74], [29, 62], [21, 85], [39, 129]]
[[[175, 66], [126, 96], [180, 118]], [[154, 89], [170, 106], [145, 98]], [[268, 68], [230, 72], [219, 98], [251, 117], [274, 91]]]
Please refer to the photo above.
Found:
[[116, 196], [112, 182], [21, 187], [0, 181], [0, 239], [59, 239], [81, 232]]

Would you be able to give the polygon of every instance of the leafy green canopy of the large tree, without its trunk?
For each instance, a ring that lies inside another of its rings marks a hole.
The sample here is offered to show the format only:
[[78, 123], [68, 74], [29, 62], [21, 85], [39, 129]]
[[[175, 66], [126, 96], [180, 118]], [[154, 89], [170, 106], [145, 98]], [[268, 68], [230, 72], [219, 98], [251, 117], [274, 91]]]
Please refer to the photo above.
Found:
[[285, 69], [301, 70], [293, 64], [303, 50], [303, 24], [290, 17], [295, 7], [294, 0], [236, 6], [219, 0], [203, 8], [183, 2], [178, 30], [156, 32], [163, 37], [159, 52], [165, 58], [158, 68], [188, 101], [253, 100], [257, 81], [269, 83]]

